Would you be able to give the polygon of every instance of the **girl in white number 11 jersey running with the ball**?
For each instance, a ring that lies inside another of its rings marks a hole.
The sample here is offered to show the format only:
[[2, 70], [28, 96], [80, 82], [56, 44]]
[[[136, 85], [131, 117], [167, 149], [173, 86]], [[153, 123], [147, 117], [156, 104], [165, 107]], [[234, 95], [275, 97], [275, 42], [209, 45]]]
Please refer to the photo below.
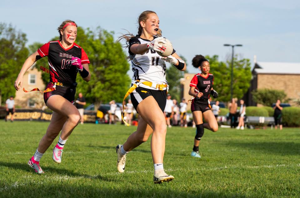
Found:
[[[157, 52], [164, 52], [160, 42], [162, 37], [156, 37], [159, 31], [159, 19], [155, 12], [142, 12], [138, 18], [138, 35], [123, 35], [127, 40], [129, 58], [132, 63], [133, 86], [128, 93], [134, 108], [140, 115], [137, 131], [131, 134], [123, 145], [118, 145], [117, 168], [124, 172], [126, 154], [151, 138], [151, 153], [154, 163], [154, 183], [171, 181], [173, 176], [163, 170], [163, 155], [165, 151], [166, 121], [163, 110], [166, 106], [167, 81], [165, 77], [166, 63], [170, 62], [179, 70], [186, 69], [185, 63], [173, 51], [168, 57], [161, 57]], [[126, 96], [128, 95], [126, 94]]]

